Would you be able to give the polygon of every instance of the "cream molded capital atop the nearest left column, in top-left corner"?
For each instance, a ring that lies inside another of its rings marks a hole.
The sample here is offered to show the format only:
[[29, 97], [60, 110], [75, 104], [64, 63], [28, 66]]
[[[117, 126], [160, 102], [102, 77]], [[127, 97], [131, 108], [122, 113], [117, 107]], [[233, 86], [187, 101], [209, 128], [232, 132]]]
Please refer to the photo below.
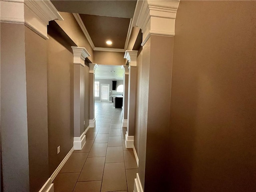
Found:
[[1, 0], [1, 22], [24, 24], [44, 39], [51, 20], [63, 20], [50, 0]]

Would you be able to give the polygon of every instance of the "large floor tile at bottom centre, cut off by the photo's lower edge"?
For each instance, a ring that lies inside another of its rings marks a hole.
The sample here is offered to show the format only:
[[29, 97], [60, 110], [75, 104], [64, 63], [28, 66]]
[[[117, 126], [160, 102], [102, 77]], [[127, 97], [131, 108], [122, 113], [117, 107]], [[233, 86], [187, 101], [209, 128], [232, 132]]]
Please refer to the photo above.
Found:
[[102, 192], [127, 190], [124, 163], [106, 163], [102, 180]]

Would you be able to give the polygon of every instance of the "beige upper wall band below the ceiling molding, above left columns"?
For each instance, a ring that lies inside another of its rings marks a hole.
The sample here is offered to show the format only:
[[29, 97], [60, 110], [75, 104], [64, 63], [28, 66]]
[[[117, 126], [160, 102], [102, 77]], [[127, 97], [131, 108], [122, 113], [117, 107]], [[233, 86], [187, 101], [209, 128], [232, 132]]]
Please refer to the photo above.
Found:
[[63, 17], [64, 21], [55, 20], [56, 23], [62, 28], [62, 30], [72, 39], [72, 41], [78, 47], [84, 47], [91, 55], [88, 59], [91, 62], [94, 62], [93, 50], [90, 46], [88, 40], [84, 36], [84, 33], [80, 26], [78, 25], [76, 19], [74, 18], [72, 13], [67, 12], [59, 12], [60, 15]]

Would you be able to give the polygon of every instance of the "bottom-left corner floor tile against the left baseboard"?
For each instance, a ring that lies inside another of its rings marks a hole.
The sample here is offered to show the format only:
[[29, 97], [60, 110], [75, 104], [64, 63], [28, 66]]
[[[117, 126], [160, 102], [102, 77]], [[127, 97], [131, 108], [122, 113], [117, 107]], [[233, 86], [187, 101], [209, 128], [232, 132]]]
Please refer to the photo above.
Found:
[[54, 179], [54, 192], [72, 192], [80, 173], [59, 173]]

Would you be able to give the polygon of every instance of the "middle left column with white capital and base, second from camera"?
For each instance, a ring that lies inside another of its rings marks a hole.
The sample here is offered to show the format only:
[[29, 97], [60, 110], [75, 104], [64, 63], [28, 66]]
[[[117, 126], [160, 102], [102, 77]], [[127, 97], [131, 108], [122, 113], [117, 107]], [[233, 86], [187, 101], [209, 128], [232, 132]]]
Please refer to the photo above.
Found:
[[74, 150], [86, 142], [84, 134], [84, 60], [90, 56], [83, 47], [72, 47], [74, 55]]

